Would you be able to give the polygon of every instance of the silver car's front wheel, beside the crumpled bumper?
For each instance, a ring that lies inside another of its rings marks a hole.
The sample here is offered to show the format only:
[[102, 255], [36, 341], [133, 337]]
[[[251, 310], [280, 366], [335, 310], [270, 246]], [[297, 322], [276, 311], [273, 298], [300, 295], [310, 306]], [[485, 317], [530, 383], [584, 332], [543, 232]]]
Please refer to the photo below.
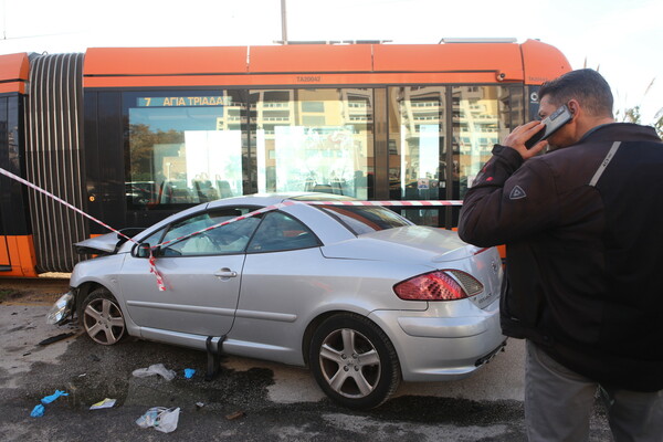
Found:
[[126, 324], [119, 304], [104, 287], [96, 288], [83, 301], [81, 324], [92, 340], [114, 345], [126, 334]]

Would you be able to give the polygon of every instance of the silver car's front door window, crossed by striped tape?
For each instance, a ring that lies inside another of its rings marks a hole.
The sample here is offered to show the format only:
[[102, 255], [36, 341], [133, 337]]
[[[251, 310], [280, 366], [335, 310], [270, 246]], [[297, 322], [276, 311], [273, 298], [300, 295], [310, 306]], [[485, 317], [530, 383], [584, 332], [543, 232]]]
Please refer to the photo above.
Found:
[[[164, 242], [219, 224], [232, 218], [246, 214], [251, 209], [217, 210], [179, 221], [170, 227]], [[220, 228], [199, 233], [175, 242], [162, 250], [165, 256], [197, 256], [243, 253], [249, 239], [260, 223], [259, 217], [235, 221]]]

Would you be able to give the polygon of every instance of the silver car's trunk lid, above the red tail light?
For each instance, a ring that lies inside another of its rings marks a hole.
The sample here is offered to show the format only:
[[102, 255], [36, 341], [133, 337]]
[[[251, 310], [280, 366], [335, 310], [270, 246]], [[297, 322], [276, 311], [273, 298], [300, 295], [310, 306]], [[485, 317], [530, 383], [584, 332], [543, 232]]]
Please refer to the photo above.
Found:
[[365, 233], [357, 239], [322, 248], [326, 257], [350, 260], [429, 261], [431, 263], [470, 257], [480, 250], [462, 241], [456, 232], [423, 225], [408, 225]]

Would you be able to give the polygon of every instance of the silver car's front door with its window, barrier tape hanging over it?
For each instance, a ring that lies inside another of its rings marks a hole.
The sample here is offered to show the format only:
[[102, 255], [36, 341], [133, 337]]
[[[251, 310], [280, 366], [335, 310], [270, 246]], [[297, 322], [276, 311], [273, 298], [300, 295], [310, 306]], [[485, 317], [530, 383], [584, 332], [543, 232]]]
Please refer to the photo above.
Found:
[[156, 251], [166, 291], [159, 291], [146, 257], [128, 256], [119, 276], [131, 320], [140, 327], [222, 336], [230, 330], [249, 239], [260, 223], [248, 218], [178, 240], [251, 209], [217, 209], [176, 221], [144, 243], [173, 242]]

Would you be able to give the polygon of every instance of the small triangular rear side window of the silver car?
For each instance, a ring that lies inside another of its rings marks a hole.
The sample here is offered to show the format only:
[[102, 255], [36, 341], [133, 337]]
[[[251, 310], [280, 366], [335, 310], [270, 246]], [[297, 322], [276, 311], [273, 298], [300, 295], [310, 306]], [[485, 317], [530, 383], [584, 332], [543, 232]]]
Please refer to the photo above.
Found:
[[246, 251], [276, 252], [318, 245], [317, 236], [302, 222], [283, 212], [269, 212], [255, 231]]

